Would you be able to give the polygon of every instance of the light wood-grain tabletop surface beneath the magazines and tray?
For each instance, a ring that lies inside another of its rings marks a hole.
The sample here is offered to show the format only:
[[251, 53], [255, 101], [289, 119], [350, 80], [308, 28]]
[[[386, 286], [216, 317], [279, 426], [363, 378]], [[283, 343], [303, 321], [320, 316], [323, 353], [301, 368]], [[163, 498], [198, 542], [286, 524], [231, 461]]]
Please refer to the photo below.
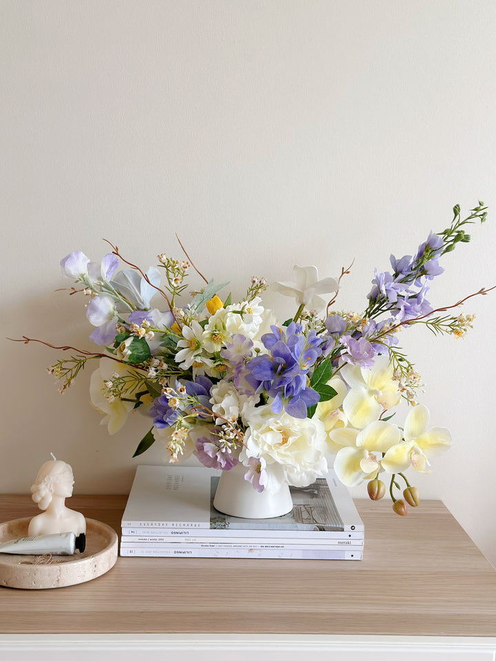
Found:
[[[127, 496], [70, 507], [120, 532]], [[0, 588], [0, 633], [327, 633], [496, 637], [496, 571], [440, 501], [355, 501], [364, 559], [121, 558], [88, 583]], [[0, 521], [38, 513], [0, 496]]]

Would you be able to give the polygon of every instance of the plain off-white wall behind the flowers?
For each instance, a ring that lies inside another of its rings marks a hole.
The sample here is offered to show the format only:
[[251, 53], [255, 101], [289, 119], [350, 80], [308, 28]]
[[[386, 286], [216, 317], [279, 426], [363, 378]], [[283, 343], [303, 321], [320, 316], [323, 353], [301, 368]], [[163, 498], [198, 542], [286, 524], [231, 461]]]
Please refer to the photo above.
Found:
[[[234, 295], [253, 274], [336, 275], [354, 258], [340, 305], [360, 310], [375, 266], [481, 199], [490, 218], [446, 255], [432, 302], [496, 284], [493, 0], [0, 8], [3, 336], [90, 348], [83, 299], [56, 291], [69, 284], [59, 260], [99, 260], [103, 238], [146, 267], [181, 255], [178, 232]], [[493, 563], [495, 309], [496, 293], [466, 304], [477, 324], [463, 341], [403, 336], [433, 423], [454, 437], [417, 483]], [[49, 452], [79, 493], [127, 492], [137, 463], [161, 461], [160, 448], [132, 459], [140, 415], [114, 437], [99, 426], [89, 373], [58, 394], [44, 368], [61, 353], [6, 339], [0, 352], [1, 492], [28, 492]]]

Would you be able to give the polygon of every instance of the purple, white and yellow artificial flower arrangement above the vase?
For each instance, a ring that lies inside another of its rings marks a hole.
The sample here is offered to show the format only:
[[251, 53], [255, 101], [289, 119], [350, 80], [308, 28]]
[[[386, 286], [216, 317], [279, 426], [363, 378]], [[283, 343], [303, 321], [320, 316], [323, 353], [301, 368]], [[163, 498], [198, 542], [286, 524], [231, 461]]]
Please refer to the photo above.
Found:
[[[271, 287], [294, 297], [296, 313], [284, 322], [262, 303], [267, 282], [252, 277], [247, 293], [233, 302], [188, 261], [158, 255], [158, 266], [143, 272], [116, 246], [100, 264], [81, 251], [61, 261], [63, 273], [89, 297], [86, 315], [99, 352], [74, 347], [48, 371], [72, 384], [88, 361], [99, 360], [90, 381], [92, 405], [114, 434], [138, 408], [151, 429], [134, 456], [159, 440], [169, 461], [196, 454], [210, 468], [245, 467], [258, 492], [276, 492], [283, 482], [303, 487], [333, 468], [348, 487], [367, 481], [373, 500], [382, 498], [389, 477], [393, 510], [418, 505], [418, 489], [404, 472], [429, 472], [429, 459], [451, 446], [446, 428], [430, 427], [426, 406], [417, 401], [420, 375], [398, 346], [398, 331], [424, 324], [436, 334], [461, 337], [473, 315], [451, 315], [453, 305], [433, 310], [431, 280], [444, 269], [440, 258], [468, 242], [466, 224], [486, 220], [479, 202], [462, 219], [454, 208], [450, 227], [430, 233], [415, 255], [396, 259], [391, 270], [375, 270], [368, 304], [360, 313], [335, 308], [339, 277], [318, 280], [314, 266], [295, 266], [293, 282]], [[180, 243], [180, 242], [179, 242]], [[119, 260], [127, 267], [118, 271]], [[194, 269], [205, 286], [183, 301]], [[164, 275], [164, 284], [161, 284]], [[330, 300], [323, 295], [331, 295]], [[160, 295], [163, 308], [152, 300]], [[40, 342], [23, 337], [23, 342]], [[406, 400], [402, 426], [393, 419]]]

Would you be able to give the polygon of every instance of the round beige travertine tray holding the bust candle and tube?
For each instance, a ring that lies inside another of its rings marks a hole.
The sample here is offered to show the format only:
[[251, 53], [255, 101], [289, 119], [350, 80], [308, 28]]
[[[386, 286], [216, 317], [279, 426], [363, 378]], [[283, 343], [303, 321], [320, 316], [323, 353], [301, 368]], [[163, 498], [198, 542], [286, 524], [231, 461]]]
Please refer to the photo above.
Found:
[[[31, 518], [17, 518], [0, 524], [0, 543], [28, 536]], [[97, 578], [114, 567], [117, 534], [110, 526], [86, 519], [86, 548], [74, 556], [21, 556], [0, 553], [0, 586], [26, 590], [66, 587]], [[40, 560], [50, 564], [34, 564]]]

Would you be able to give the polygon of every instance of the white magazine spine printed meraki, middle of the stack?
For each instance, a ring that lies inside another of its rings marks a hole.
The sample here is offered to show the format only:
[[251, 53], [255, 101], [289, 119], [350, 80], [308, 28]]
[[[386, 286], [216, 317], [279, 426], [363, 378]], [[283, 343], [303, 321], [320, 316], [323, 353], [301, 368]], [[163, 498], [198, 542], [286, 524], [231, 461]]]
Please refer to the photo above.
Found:
[[187, 539], [171, 539], [170, 537], [158, 537], [158, 536], [145, 536], [145, 537], [134, 537], [132, 535], [123, 535], [121, 537], [121, 546], [123, 547], [132, 547], [132, 546], [149, 546], [149, 547], [171, 547], [177, 548], [178, 545], [187, 545], [188, 547], [193, 547], [197, 545], [204, 545], [205, 547], [218, 546], [229, 548], [233, 545], [240, 546], [244, 545], [245, 547], [286, 547], [286, 548], [298, 548], [304, 547], [322, 547], [327, 548], [344, 548], [344, 549], [359, 549], [364, 545], [363, 539], [353, 539], [353, 540], [340, 540], [340, 539], [304, 539], [296, 540], [295, 538], [247, 538], [247, 537], [230, 537], [224, 539], [215, 539], [212, 537], [192, 537]]

